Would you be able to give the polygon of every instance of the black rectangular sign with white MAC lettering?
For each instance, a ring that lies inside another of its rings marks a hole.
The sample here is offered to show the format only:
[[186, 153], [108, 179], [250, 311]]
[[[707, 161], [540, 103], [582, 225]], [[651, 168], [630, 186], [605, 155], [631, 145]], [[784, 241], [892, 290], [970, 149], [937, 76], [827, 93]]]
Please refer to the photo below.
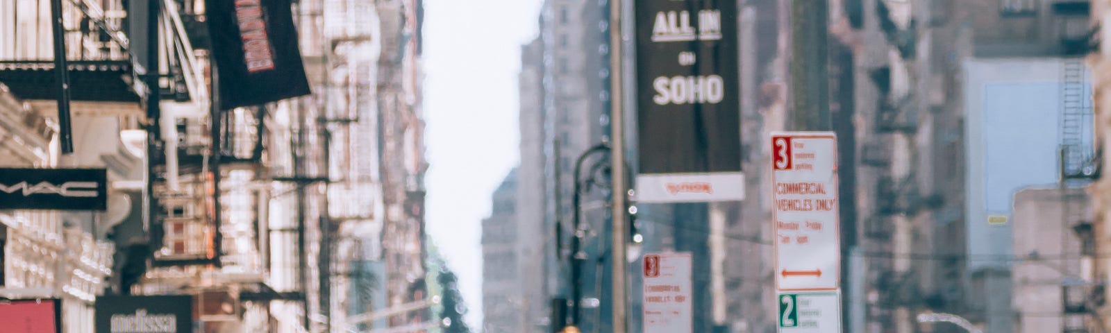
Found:
[[103, 211], [104, 169], [0, 169], [0, 210]]

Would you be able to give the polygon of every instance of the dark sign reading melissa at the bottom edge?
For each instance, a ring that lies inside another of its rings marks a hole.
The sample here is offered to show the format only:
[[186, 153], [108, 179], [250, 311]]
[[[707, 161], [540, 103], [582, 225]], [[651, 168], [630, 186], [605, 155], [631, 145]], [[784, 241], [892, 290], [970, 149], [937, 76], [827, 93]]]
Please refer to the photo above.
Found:
[[97, 297], [97, 333], [192, 333], [193, 296]]

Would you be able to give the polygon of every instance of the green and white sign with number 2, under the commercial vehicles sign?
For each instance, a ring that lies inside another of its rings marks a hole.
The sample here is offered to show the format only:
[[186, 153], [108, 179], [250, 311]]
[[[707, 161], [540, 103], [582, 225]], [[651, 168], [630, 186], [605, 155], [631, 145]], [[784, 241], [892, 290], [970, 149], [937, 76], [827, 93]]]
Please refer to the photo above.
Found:
[[780, 333], [841, 333], [841, 294], [779, 294]]

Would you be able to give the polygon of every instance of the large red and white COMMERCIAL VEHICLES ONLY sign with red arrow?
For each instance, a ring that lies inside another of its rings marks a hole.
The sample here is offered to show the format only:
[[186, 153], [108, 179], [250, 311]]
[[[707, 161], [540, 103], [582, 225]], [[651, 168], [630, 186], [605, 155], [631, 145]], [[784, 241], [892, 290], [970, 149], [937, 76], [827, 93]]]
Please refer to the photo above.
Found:
[[837, 137], [777, 132], [771, 145], [775, 289], [837, 290], [841, 276]]

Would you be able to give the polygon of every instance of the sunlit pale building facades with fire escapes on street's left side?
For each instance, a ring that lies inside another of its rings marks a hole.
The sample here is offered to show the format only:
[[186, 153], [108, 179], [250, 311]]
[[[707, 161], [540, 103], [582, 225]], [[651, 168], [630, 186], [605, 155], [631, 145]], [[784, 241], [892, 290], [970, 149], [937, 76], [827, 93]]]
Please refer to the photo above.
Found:
[[73, 154], [52, 72], [36, 71], [52, 64], [49, 1], [0, 4], [0, 120], [21, 143], [0, 161], [104, 168], [110, 183], [104, 213], [0, 213], [3, 297], [62, 297], [72, 332], [92, 330], [106, 293], [191, 295], [203, 332], [440, 325], [412, 306], [430, 297], [423, 4], [293, 2], [312, 94], [231, 110], [212, 107], [204, 1], [63, 2]]

